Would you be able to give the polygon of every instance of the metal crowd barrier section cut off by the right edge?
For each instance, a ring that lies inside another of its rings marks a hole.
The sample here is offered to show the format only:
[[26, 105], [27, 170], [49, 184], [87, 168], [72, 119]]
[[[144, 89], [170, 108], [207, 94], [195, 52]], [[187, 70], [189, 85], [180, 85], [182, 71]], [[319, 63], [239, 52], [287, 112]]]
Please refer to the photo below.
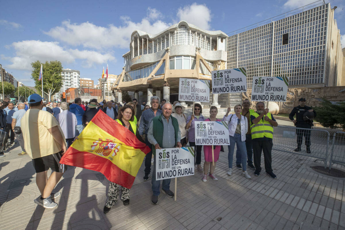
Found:
[[329, 169], [331, 169], [333, 162], [345, 166], [345, 132], [336, 132], [333, 135], [331, 159], [329, 160]]

